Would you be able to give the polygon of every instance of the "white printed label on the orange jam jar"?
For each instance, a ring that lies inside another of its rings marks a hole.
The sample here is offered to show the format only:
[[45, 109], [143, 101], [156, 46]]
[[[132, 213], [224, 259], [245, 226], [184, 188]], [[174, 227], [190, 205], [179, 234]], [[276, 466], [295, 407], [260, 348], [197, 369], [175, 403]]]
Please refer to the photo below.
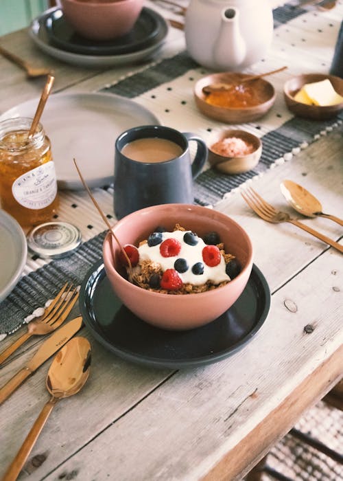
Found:
[[44, 209], [57, 194], [55, 164], [46, 162], [21, 175], [12, 184], [14, 199], [28, 209]]

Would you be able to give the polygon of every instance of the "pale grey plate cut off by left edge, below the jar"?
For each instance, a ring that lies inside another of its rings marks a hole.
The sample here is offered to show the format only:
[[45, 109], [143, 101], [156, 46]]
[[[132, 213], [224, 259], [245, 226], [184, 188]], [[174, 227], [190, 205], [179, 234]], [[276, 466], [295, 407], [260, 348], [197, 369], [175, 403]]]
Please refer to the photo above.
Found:
[[0, 210], [0, 302], [21, 278], [27, 257], [26, 238], [21, 226], [10, 214]]

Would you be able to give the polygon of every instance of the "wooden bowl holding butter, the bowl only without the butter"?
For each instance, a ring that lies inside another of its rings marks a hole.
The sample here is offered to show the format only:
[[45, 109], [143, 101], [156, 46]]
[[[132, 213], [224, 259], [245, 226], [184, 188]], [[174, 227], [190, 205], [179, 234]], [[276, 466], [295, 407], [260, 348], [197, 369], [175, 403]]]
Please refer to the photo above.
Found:
[[302, 102], [294, 100], [296, 93], [305, 84], [312, 82], [320, 82], [328, 78], [337, 93], [343, 96], [343, 79], [333, 75], [326, 74], [303, 74], [287, 80], [283, 87], [283, 96], [289, 111], [293, 112], [298, 117], [303, 117], [311, 120], [327, 120], [335, 117], [342, 109], [343, 102], [335, 105], [327, 105], [320, 107], [319, 105], [307, 105]]

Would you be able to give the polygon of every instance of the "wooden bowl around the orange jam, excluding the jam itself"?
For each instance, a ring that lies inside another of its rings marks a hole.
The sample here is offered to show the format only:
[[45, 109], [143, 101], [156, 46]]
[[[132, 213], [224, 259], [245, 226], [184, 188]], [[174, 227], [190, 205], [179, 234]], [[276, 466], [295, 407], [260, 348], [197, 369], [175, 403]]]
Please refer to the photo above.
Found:
[[211, 74], [200, 78], [194, 87], [194, 99], [198, 109], [207, 117], [220, 120], [228, 124], [241, 124], [243, 122], [252, 122], [261, 118], [272, 107], [275, 102], [276, 93], [270, 82], [263, 78], [257, 78], [246, 85], [254, 89], [255, 95], [259, 100], [259, 104], [254, 107], [217, 107], [206, 102], [206, 93], [202, 91], [204, 87], [216, 83], [235, 83], [239, 84], [241, 80], [250, 77], [247, 74], [239, 74], [235, 72], [222, 72], [220, 74]]

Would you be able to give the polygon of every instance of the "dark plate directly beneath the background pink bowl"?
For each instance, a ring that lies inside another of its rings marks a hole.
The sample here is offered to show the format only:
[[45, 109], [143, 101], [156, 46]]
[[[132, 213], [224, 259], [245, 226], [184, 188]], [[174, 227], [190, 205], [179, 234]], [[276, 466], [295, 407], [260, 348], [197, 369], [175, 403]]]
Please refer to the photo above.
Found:
[[165, 23], [160, 14], [143, 7], [134, 26], [121, 37], [111, 41], [88, 40], [77, 34], [64, 19], [60, 8], [52, 10], [45, 16], [45, 28], [49, 41], [56, 47], [85, 55], [119, 55], [137, 52], [150, 47], [158, 41], [161, 26]]

